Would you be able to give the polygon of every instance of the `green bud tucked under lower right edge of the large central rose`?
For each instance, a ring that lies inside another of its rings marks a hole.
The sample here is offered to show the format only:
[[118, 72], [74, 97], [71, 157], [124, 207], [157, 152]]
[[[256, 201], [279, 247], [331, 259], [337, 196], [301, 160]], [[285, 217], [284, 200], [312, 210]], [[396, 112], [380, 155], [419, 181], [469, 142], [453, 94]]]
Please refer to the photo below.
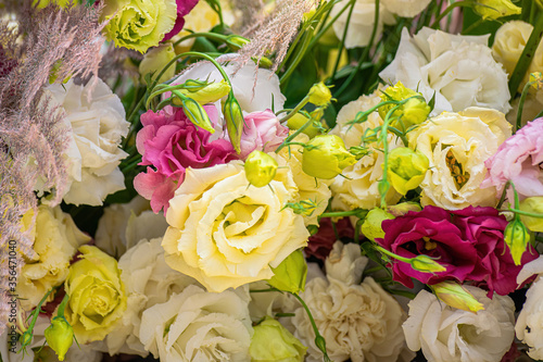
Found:
[[307, 264], [302, 249], [292, 252], [277, 267], [272, 267], [272, 271], [274, 276], [268, 280], [268, 284], [274, 288], [293, 294], [304, 291]]

